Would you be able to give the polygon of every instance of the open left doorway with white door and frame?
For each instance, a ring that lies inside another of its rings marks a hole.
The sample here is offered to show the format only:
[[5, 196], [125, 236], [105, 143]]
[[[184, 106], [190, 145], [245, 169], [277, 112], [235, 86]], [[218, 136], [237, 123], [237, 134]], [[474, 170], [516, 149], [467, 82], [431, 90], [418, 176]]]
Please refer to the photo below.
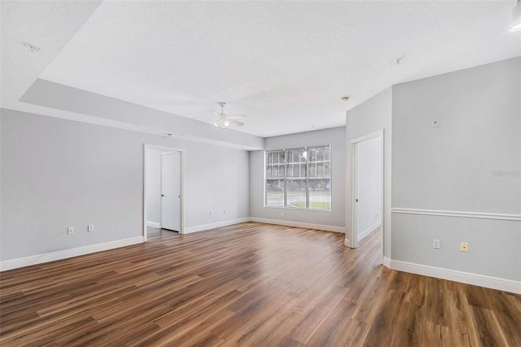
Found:
[[183, 161], [183, 151], [178, 148], [145, 144], [145, 241], [183, 233]]

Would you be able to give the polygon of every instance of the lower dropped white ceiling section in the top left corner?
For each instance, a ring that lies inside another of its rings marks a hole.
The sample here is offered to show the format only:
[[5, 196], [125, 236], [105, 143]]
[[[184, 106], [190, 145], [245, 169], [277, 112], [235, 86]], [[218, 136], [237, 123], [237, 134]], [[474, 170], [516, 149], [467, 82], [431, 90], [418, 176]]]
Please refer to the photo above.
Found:
[[[67, 44], [101, 1], [2, 1], [0, 34], [0, 102], [25, 109], [18, 99]], [[30, 52], [24, 44], [39, 46]]]

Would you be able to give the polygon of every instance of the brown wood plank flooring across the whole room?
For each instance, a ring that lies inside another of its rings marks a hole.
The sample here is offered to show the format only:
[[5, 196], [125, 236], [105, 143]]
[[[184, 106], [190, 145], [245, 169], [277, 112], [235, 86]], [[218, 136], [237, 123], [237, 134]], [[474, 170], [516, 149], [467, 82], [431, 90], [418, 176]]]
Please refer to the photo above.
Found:
[[4, 271], [0, 345], [521, 346], [521, 295], [248, 222]]

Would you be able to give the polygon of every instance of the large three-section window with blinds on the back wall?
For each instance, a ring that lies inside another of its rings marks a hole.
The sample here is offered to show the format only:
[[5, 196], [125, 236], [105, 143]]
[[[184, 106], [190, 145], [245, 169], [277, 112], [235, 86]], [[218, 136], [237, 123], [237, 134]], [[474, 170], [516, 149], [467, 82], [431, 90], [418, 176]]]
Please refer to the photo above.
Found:
[[267, 207], [331, 210], [331, 145], [266, 152]]

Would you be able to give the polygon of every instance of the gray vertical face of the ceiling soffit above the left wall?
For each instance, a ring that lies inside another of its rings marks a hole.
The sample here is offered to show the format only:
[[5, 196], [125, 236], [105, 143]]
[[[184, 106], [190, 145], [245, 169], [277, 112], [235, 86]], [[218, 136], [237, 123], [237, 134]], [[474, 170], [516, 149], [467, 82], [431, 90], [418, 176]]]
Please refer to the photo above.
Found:
[[[21, 102], [75, 113], [75, 120], [107, 126], [123, 125], [153, 134], [173, 133], [185, 140], [231, 146], [243, 150], [263, 148], [264, 139], [242, 131], [215, 131], [207, 122], [182, 117], [113, 97], [36, 79], [20, 98]], [[57, 115], [58, 116], [58, 115]], [[206, 117], [208, 115], [202, 115]], [[92, 118], [94, 117], [94, 118]]]

